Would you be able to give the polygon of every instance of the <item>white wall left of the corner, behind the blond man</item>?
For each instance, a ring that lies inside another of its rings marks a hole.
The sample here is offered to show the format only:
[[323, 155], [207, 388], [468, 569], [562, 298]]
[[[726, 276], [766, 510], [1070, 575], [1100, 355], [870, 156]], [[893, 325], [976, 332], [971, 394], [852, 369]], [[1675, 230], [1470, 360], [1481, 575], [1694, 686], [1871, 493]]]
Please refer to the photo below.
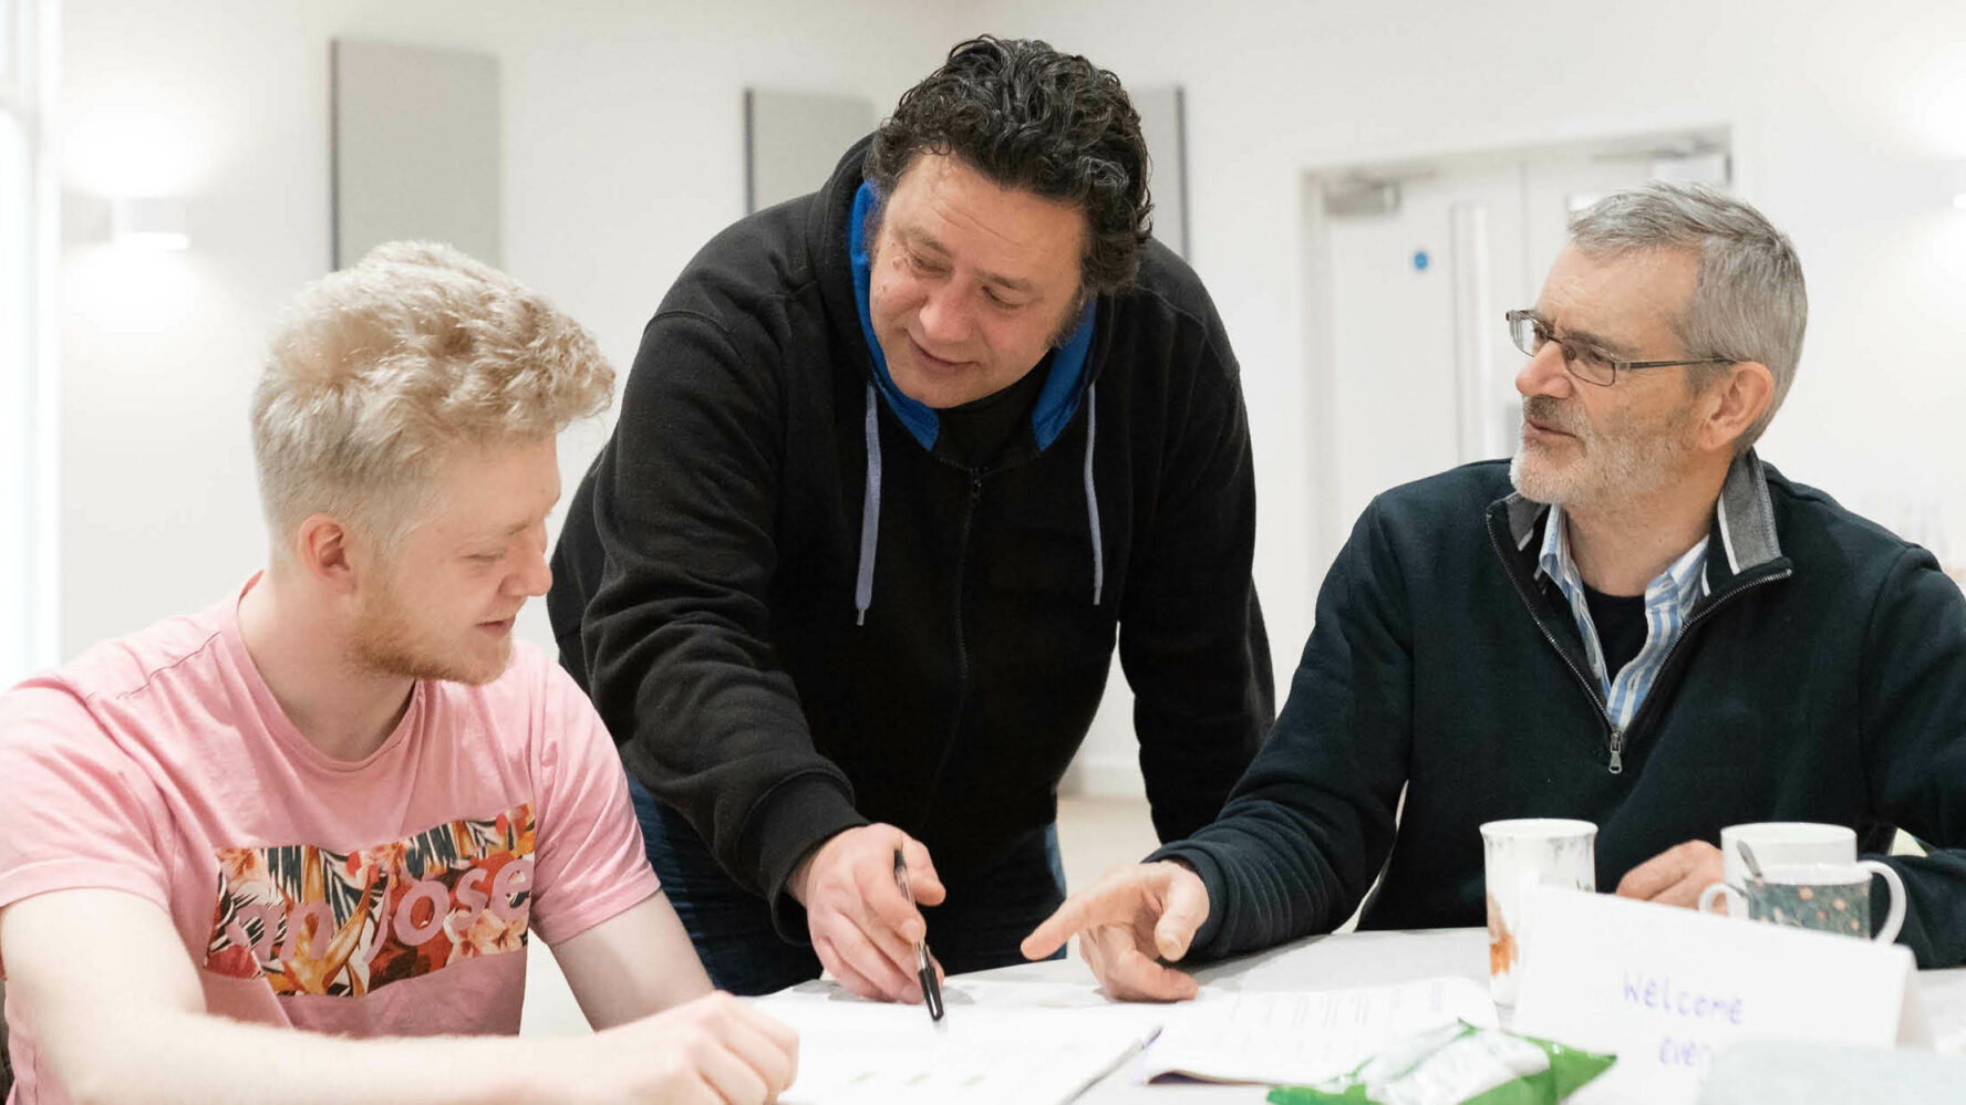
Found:
[[[891, 28], [877, 47], [869, 26]], [[950, 43], [887, 0], [67, 4], [65, 657], [263, 560], [246, 407], [279, 305], [328, 267], [332, 35], [499, 59], [505, 267], [623, 372], [682, 263], [743, 214], [743, 87], [893, 102]], [[193, 248], [102, 246], [114, 191], [185, 197]], [[562, 442], [568, 490], [604, 433]], [[543, 604], [521, 631], [550, 641]]]

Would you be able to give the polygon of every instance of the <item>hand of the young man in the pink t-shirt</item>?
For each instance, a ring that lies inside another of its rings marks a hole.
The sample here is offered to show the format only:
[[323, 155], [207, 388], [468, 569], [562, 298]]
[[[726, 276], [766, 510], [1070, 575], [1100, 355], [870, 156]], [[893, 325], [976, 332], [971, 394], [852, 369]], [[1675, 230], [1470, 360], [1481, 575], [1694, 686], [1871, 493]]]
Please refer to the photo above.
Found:
[[798, 1034], [727, 993], [706, 993], [568, 1040], [582, 1103], [765, 1105], [798, 1074]]

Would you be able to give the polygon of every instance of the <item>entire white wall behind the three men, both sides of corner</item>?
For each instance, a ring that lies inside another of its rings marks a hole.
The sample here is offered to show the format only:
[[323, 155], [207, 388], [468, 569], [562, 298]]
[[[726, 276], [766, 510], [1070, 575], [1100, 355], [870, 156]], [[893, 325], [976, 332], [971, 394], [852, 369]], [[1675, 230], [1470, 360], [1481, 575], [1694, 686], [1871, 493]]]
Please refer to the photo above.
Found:
[[[244, 409], [271, 313], [326, 263], [326, 39], [503, 63], [507, 267], [627, 368], [682, 262], [741, 212], [747, 83], [893, 98], [967, 33], [1042, 35], [1187, 88], [1189, 236], [1244, 366], [1258, 582], [1280, 682], [1351, 519], [1313, 509], [1305, 169], [1724, 124], [1801, 248], [1815, 319], [1764, 454], [1881, 521], [1938, 503], [1966, 560], [1966, 6], [1879, 0], [924, 4], [69, 4], [63, 112], [149, 106], [142, 161], [195, 248], [63, 265], [63, 651], [189, 610], [260, 560]], [[981, 14], [977, 14], [981, 12]], [[151, 132], [157, 126], [149, 128]], [[73, 149], [87, 161], [88, 149]], [[181, 161], [181, 167], [173, 163]], [[83, 169], [71, 171], [81, 187]], [[1398, 417], [1398, 411], [1388, 411]], [[568, 484], [602, 429], [570, 435]], [[533, 611], [525, 631], [545, 639]], [[1125, 702], [1089, 751], [1132, 759]]]

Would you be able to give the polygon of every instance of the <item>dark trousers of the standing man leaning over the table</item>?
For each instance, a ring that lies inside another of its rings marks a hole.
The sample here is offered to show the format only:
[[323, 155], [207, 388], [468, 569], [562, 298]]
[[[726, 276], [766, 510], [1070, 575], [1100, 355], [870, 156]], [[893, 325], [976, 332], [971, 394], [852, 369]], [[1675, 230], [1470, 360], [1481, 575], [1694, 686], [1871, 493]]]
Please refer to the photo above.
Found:
[[[771, 924], [765, 899], [737, 887], [718, 867], [704, 838], [676, 810], [629, 775], [649, 865], [668, 904], [682, 918], [696, 956], [718, 989], [739, 995], [781, 991], [820, 977], [820, 960], [804, 940], [786, 944]], [[1022, 963], [1018, 942], [1066, 899], [1058, 826], [1034, 832], [995, 867], [944, 879], [948, 899], [924, 906], [928, 948], [952, 975]], [[1056, 958], [1064, 958], [1060, 950]]]

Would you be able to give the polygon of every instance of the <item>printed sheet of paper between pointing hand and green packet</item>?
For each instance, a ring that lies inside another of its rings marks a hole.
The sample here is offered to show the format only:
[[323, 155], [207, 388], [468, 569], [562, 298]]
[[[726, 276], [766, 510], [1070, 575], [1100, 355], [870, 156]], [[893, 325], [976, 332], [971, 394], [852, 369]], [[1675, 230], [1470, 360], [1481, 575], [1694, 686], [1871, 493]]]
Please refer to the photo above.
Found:
[[1345, 1074], [1386, 1044], [1451, 1024], [1494, 1026], [1488, 987], [1463, 977], [1321, 993], [1203, 991], [1166, 1011], [1146, 1077], [1301, 1085]]

